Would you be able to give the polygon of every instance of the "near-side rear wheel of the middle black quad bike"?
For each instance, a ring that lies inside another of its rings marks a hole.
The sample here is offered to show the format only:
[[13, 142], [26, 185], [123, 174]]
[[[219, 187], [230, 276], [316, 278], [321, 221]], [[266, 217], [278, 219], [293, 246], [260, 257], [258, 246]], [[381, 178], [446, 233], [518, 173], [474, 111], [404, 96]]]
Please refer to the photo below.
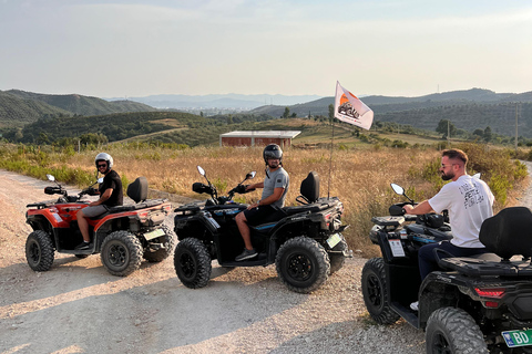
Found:
[[308, 237], [289, 239], [279, 248], [275, 267], [280, 281], [289, 290], [310, 293], [329, 275], [329, 257], [324, 247]]

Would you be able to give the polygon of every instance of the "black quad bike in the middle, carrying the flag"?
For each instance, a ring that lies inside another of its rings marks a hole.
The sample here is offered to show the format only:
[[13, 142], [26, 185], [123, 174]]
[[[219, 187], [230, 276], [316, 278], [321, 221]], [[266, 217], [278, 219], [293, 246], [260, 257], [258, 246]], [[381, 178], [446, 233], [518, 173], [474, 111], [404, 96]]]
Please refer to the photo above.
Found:
[[301, 183], [301, 205], [279, 208], [262, 225], [250, 226], [252, 242], [257, 257], [235, 261], [244, 241], [235, 216], [247, 208], [232, 199], [246, 192], [244, 181], [254, 178], [255, 171], [227, 196], [218, 197], [205, 170], [198, 171], [207, 185], [195, 183], [193, 190], [211, 196], [206, 202], [178, 207], [174, 225], [180, 239], [174, 252], [174, 267], [185, 287], [205, 287], [211, 278], [212, 260], [222, 267], [256, 267], [276, 264], [277, 273], [286, 287], [295, 292], [309, 293], [319, 288], [330, 273], [338, 271], [349, 256], [341, 231], [344, 205], [337, 197], [319, 198], [319, 178], [311, 171]]

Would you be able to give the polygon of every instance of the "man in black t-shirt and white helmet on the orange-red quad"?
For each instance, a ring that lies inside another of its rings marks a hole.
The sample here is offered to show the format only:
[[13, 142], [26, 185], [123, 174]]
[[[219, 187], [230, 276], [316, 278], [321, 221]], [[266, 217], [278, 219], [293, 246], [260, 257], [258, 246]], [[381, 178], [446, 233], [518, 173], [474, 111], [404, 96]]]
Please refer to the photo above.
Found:
[[80, 227], [83, 242], [75, 247], [76, 250], [88, 250], [91, 248], [91, 237], [89, 235], [89, 222], [86, 218], [94, 218], [108, 211], [110, 207], [121, 206], [124, 194], [122, 190], [122, 180], [113, 168], [113, 158], [106, 153], [100, 153], [95, 158], [96, 168], [103, 174], [103, 183], [98, 188], [100, 199], [89, 204], [89, 207], [78, 211], [78, 226]]

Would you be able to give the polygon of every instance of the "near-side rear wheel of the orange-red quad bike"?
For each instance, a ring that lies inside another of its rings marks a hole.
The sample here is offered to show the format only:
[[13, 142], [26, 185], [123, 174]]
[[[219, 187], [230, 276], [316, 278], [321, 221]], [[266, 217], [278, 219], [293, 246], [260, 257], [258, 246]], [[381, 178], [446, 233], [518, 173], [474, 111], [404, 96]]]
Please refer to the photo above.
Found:
[[141, 241], [127, 231], [112, 232], [103, 240], [101, 259], [111, 274], [126, 277], [141, 267]]

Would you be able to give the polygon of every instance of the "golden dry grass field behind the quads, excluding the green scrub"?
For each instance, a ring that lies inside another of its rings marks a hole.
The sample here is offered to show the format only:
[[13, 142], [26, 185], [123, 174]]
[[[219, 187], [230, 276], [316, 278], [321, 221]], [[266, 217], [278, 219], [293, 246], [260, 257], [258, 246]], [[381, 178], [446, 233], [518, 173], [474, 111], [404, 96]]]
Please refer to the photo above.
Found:
[[[201, 198], [192, 191], [194, 181], [204, 181], [196, 165], [202, 166], [207, 178], [218, 187], [221, 194], [236, 186], [246, 173], [257, 170], [256, 181], [264, 178], [262, 148], [208, 148], [197, 147], [186, 150], [150, 149], [126, 150], [111, 147], [114, 168], [121, 176], [132, 181], [145, 176], [150, 187], [186, 197]], [[91, 170], [95, 153], [75, 155], [63, 164]], [[419, 177], [410, 177], [410, 169], [421, 169], [430, 160], [438, 159], [437, 150], [420, 149], [287, 149], [284, 155], [285, 169], [290, 175], [287, 204], [295, 205], [299, 185], [310, 170], [320, 176], [320, 196], [338, 196], [345, 205], [344, 221], [350, 225], [346, 238], [354, 250], [362, 256], [378, 253], [368, 239], [371, 217], [386, 215], [389, 205], [402, 201], [391, 191], [390, 183], [405, 187], [416, 186], [417, 197], [430, 196], [432, 186]], [[330, 169], [329, 169], [330, 166]], [[421, 187], [420, 187], [421, 186]], [[424, 189], [424, 191], [423, 191]], [[249, 202], [260, 198], [260, 191], [238, 197], [238, 201]]]

